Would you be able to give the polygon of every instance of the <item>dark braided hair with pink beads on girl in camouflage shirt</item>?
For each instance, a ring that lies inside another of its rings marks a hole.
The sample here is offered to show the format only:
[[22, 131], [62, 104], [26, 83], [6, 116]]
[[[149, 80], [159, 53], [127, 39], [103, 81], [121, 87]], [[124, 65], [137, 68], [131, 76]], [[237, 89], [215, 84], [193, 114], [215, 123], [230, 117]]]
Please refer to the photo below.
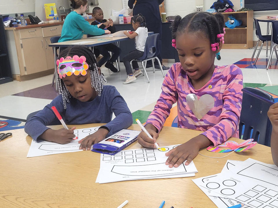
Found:
[[173, 47], [175, 47], [177, 34], [184, 32], [202, 32], [210, 40], [213, 51], [216, 50], [216, 47], [219, 49], [219, 42], [224, 43], [224, 17], [220, 13], [195, 12], [186, 15], [184, 18], [176, 16], [171, 25], [171, 29]]

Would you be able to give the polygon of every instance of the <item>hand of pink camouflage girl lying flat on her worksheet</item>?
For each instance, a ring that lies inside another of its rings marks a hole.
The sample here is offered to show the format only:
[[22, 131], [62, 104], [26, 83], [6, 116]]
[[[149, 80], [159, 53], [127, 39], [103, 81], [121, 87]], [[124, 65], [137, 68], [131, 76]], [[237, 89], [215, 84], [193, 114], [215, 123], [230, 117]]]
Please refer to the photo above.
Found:
[[185, 165], [189, 165], [198, 155], [199, 150], [211, 145], [211, 143], [212, 142], [206, 138], [206, 136], [200, 134], [167, 152], [165, 155], [169, 157], [165, 164], [169, 165], [169, 168], [177, 168], [187, 159]]

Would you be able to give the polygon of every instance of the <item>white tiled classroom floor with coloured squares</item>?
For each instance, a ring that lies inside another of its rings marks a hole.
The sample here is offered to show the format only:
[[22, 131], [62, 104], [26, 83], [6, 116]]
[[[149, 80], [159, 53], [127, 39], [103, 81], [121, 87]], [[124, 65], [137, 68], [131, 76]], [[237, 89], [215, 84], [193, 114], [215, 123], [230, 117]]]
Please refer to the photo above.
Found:
[[[273, 55], [273, 67], [266, 70], [265, 63], [266, 50], [262, 50], [259, 56], [261, 64], [257, 64], [257, 68], [246, 67], [252, 63], [239, 65], [243, 72], [244, 87], [260, 87], [264, 90], [278, 95], [278, 69], [275, 64], [276, 57]], [[248, 61], [252, 56], [253, 49], [222, 49], [220, 52], [221, 60], [215, 59], [215, 65], [228, 65], [239, 61]], [[244, 59], [244, 60], [242, 60]], [[165, 66], [171, 66], [173, 62], [164, 62]], [[278, 68], [278, 67], [277, 67]], [[161, 92], [161, 84], [163, 81], [160, 70], [152, 72], [152, 68], [148, 68], [150, 83], [147, 82], [146, 76], [140, 75], [134, 83], [127, 85], [122, 84], [126, 79], [126, 72], [121, 62], [121, 71], [113, 73], [105, 67], [102, 67], [108, 84], [117, 88], [124, 97], [129, 109], [133, 113], [133, 117], [139, 118], [145, 122], [147, 116], [152, 111], [156, 100]], [[164, 71], [166, 73], [166, 71]], [[41, 110], [45, 105], [57, 96], [54, 88], [51, 86], [52, 75], [32, 79], [28, 81], [12, 81], [1, 84], [0, 91], [0, 131], [22, 128], [26, 116], [31, 112]], [[273, 86], [273, 87], [267, 87]]]

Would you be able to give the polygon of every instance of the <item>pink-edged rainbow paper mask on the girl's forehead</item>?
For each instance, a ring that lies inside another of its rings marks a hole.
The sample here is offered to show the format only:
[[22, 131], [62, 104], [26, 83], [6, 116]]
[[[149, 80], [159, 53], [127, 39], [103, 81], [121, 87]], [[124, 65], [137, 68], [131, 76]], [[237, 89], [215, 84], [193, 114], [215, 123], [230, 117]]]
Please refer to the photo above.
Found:
[[73, 57], [67, 56], [66, 58], [61, 57], [56, 61], [57, 72], [59, 77], [70, 76], [72, 74], [78, 76], [79, 74], [85, 76], [89, 65], [86, 63], [85, 56], [74, 55]]

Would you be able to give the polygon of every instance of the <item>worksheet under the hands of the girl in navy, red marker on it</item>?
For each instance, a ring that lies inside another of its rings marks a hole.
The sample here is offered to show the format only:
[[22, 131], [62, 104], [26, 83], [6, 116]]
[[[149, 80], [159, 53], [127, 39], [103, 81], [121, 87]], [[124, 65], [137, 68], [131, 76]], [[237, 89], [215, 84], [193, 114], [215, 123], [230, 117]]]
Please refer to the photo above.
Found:
[[73, 138], [73, 140], [68, 144], [58, 144], [55, 142], [47, 141], [36, 142], [32, 140], [27, 157], [82, 151], [79, 149], [80, 144], [78, 144], [78, 141], [92, 133], [95, 133], [98, 128], [99, 127], [75, 129], [75, 138]]

